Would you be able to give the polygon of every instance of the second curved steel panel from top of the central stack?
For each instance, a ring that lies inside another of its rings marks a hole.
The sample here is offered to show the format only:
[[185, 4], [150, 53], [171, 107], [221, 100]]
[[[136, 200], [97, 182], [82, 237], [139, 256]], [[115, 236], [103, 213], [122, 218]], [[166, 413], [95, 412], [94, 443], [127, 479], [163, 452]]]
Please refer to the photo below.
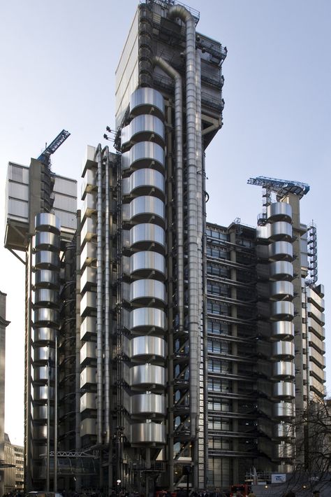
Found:
[[[151, 137], [152, 135], [152, 137]], [[159, 145], [164, 145], [165, 131], [161, 119], [149, 114], [141, 114], [133, 118], [128, 126], [122, 128], [122, 147], [129, 145], [133, 141], [155, 141]]]

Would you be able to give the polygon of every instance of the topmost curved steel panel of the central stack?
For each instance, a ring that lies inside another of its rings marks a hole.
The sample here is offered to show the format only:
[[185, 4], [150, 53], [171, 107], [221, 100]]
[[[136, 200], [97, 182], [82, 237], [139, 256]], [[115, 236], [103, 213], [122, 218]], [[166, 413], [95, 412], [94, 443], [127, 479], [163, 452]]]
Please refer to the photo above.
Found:
[[130, 97], [130, 112], [133, 116], [141, 113], [156, 113], [164, 116], [164, 100], [160, 92], [149, 87], [140, 87]]

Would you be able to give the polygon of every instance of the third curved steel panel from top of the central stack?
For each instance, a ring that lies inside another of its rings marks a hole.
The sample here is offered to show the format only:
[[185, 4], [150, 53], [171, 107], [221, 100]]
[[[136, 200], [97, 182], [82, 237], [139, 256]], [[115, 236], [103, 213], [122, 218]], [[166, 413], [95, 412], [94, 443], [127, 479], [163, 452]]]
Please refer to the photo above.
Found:
[[151, 167], [159, 169], [161, 172], [164, 170], [164, 150], [152, 141], [140, 141], [138, 144], [133, 145], [128, 152], [122, 153], [122, 169], [133, 167], [140, 169], [142, 167]]

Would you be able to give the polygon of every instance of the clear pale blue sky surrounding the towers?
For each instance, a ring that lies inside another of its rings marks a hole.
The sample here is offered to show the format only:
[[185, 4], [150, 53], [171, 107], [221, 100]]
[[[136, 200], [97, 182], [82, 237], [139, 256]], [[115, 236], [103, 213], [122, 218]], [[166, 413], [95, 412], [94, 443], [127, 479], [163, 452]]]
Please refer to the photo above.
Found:
[[[115, 125], [115, 69], [137, 0], [10, 0], [0, 7], [0, 213], [9, 160], [29, 165], [64, 128], [52, 156], [80, 179], [87, 144]], [[318, 275], [330, 308], [331, 2], [191, 0], [198, 31], [228, 48], [223, 129], [207, 148], [208, 221], [256, 225], [252, 176], [308, 183], [302, 221], [318, 228]], [[78, 188], [80, 193], [80, 188]], [[3, 214], [1, 214], [3, 216]], [[5, 219], [0, 222], [3, 240]], [[2, 241], [1, 241], [2, 244]], [[8, 294], [6, 431], [23, 443], [24, 266], [1, 248]], [[328, 295], [329, 294], [329, 295]], [[327, 321], [328, 321], [328, 312]], [[326, 325], [328, 337], [328, 322]], [[331, 391], [331, 341], [327, 340]]]

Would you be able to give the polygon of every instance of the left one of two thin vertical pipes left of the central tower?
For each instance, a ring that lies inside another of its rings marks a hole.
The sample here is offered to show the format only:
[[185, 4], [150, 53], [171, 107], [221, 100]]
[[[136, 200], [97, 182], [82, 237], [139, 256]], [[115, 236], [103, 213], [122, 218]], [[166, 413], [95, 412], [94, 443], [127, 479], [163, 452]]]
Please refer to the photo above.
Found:
[[98, 161], [98, 225], [96, 228], [97, 247], [96, 247], [96, 428], [97, 428], [97, 443], [102, 443], [102, 409], [103, 409], [103, 326], [102, 326], [102, 307], [103, 307], [103, 272], [102, 272], [102, 153], [101, 144], [97, 148]]

